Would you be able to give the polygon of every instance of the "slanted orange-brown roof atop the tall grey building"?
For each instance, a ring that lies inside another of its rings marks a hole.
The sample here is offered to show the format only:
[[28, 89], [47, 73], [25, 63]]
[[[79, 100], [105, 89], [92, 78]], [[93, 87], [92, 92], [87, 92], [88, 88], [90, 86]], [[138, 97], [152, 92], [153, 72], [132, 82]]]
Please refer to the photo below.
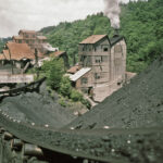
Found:
[[80, 42], [80, 45], [93, 45], [98, 41], [100, 41], [102, 38], [106, 37], [108, 35], [92, 35], [86, 38]]

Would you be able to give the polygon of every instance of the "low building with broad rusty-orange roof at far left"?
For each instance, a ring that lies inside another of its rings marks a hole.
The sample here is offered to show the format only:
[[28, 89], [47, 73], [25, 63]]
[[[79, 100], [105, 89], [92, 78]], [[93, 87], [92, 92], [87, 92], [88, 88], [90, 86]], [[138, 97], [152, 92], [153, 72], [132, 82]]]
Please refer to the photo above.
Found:
[[[38, 58], [42, 59], [43, 55], [41, 53], [38, 53]], [[11, 72], [9, 70], [7, 71], [7, 67], [11, 67], [12, 74], [24, 73], [35, 60], [35, 52], [27, 43], [16, 43], [9, 41], [4, 46], [4, 49], [0, 57], [1, 70]]]

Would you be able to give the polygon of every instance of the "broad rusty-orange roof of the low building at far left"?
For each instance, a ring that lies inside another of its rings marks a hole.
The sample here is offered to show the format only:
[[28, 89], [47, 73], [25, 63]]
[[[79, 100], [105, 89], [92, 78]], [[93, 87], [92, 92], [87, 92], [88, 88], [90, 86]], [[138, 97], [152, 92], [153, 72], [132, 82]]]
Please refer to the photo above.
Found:
[[34, 60], [35, 54], [32, 51], [30, 47], [27, 43], [15, 43], [15, 42], [8, 42], [7, 47], [9, 50], [3, 50], [3, 54], [8, 60], [22, 60], [22, 59], [29, 59]]

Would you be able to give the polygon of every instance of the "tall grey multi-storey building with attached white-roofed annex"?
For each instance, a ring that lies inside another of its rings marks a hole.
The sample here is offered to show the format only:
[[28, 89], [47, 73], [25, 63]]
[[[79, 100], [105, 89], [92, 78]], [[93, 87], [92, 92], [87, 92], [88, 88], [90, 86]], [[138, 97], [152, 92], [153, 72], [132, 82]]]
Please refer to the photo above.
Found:
[[[115, 35], [92, 35], [78, 46], [79, 63], [67, 72], [74, 87], [101, 102], [125, 83], [126, 42]], [[73, 73], [73, 71], [77, 72]], [[72, 72], [72, 73], [71, 73]]]

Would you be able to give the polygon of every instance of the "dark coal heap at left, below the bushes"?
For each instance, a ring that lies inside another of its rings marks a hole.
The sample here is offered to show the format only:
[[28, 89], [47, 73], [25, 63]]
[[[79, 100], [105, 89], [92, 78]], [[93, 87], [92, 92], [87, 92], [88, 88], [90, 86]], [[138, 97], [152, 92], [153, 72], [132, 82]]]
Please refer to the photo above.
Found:
[[49, 96], [46, 84], [41, 85], [39, 93], [26, 92], [3, 99], [0, 109], [13, 121], [52, 128], [60, 128], [76, 118], [70, 109], [59, 104], [58, 96]]

